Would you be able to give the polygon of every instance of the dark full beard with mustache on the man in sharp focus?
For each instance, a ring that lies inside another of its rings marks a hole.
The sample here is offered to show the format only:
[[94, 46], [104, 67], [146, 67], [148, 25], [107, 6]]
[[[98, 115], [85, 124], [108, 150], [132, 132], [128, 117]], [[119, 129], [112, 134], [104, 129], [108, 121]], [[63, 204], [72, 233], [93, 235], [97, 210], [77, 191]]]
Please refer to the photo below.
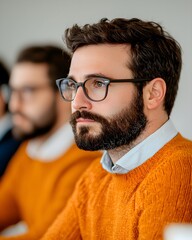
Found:
[[[124, 108], [111, 118], [104, 118], [99, 114], [87, 111], [77, 111], [71, 116], [71, 126], [74, 132], [75, 141], [80, 149], [84, 150], [111, 150], [124, 145], [130, 145], [144, 131], [147, 125], [147, 117], [143, 111], [143, 96], [137, 94], [128, 108]], [[101, 131], [98, 134], [90, 133], [89, 126], [82, 126], [77, 132], [78, 118], [92, 119], [99, 123]]]

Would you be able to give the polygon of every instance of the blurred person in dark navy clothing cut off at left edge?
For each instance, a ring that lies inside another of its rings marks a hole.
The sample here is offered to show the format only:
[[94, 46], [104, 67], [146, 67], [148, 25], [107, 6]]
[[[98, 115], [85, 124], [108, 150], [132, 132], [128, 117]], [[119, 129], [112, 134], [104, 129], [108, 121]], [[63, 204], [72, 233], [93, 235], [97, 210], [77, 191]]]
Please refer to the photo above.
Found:
[[10, 158], [20, 145], [12, 135], [12, 121], [8, 111], [9, 71], [0, 61], [0, 177], [3, 175]]

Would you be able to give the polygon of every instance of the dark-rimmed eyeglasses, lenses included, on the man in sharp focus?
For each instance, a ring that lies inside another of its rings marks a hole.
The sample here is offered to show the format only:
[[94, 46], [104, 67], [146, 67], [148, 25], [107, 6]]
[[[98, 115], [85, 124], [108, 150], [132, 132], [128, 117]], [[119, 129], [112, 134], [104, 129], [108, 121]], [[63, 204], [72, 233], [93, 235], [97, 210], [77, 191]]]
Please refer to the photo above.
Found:
[[111, 83], [139, 83], [151, 81], [152, 79], [110, 79], [104, 77], [90, 77], [85, 82], [77, 83], [70, 78], [60, 78], [56, 80], [60, 94], [66, 101], [73, 101], [79, 87], [83, 88], [85, 96], [94, 102], [100, 102], [107, 97], [108, 87]]

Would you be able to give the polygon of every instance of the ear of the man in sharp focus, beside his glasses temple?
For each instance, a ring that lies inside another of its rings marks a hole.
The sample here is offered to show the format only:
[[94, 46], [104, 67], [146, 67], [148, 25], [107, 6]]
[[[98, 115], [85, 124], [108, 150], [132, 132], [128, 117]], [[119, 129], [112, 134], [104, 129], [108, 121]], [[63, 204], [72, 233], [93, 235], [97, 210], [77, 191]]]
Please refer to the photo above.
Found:
[[162, 78], [154, 78], [144, 87], [143, 91], [146, 107], [149, 110], [163, 105], [166, 94], [166, 83]]

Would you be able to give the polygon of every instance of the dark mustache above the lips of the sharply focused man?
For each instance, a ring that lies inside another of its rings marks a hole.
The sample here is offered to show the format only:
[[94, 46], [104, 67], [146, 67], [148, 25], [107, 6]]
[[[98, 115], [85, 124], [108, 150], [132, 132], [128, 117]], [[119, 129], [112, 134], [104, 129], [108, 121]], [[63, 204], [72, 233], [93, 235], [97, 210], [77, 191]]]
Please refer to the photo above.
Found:
[[87, 111], [82, 111], [82, 112], [76, 111], [71, 115], [70, 123], [75, 124], [76, 120], [78, 118], [91, 119], [91, 120], [94, 120], [94, 121], [99, 122], [99, 123], [108, 122], [104, 117], [102, 117], [99, 114], [90, 113], [90, 112], [87, 112]]

